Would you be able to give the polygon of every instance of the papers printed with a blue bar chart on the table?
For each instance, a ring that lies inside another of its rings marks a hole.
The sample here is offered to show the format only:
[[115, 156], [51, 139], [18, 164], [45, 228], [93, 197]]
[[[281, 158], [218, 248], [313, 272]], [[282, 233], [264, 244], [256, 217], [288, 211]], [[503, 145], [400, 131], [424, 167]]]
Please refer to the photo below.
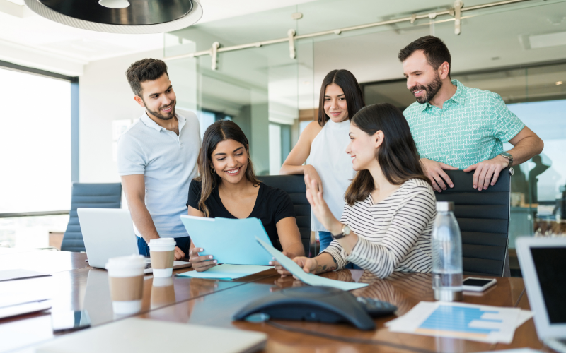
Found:
[[398, 333], [511, 343], [515, 329], [532, 316], [531, 311], [518, 308], [421, 301], [386, 326]]

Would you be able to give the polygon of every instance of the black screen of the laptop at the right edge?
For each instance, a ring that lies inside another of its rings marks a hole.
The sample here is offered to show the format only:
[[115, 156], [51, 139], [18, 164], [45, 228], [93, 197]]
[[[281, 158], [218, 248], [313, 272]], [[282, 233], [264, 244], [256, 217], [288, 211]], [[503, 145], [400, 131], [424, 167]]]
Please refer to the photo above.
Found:
[[566, 323], [566, 247], [531, 248], [550, 323]]

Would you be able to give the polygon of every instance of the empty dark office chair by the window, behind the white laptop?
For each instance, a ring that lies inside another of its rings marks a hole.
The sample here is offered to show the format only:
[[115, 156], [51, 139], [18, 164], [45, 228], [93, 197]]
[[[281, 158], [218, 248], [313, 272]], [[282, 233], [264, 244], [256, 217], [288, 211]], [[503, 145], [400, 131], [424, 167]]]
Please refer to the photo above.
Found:
[[73, 183], [69, 224], [63, 235], [62, 251], [85, 251], [83, 233], [76, 209], [81, 208], [120, 208], [122, 184], [81, 184]]

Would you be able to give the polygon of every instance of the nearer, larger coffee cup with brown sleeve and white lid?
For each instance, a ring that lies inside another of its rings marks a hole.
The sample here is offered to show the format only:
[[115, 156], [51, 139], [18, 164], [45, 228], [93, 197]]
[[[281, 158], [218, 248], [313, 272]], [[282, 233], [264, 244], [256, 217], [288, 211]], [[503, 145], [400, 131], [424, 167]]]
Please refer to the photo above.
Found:
[[130, 255], [108, 259], [112, 309], [117, 314], [138, 313], [144, 297], [144, 256]]

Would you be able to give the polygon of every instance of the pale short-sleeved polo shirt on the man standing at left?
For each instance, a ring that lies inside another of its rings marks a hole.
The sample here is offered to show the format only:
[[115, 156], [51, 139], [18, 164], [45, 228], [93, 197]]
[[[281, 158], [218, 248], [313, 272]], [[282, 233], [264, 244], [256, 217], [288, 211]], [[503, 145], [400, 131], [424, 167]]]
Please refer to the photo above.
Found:
[[[118, 139], [118, 174], [144, 174], [146, 208], [160, 237], [187, 237], [180, 215], [187, 214], [190, 181], [197, 176], [200, 128], [197, 116], [175, 109], [179, 136], [146, 113]], [[139, 231], [135, 229], [138, 237]]]

